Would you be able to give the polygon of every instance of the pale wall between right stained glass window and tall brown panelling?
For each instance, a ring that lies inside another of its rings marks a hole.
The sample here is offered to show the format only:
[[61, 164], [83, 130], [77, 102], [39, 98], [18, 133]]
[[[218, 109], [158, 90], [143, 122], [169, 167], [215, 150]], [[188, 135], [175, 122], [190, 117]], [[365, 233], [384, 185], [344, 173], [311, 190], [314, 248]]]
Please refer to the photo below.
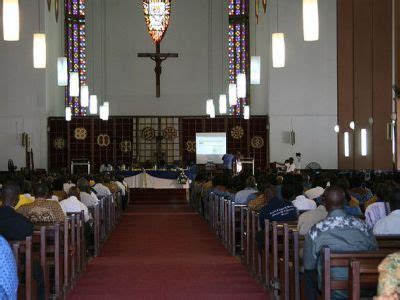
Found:
[[[253, 10], [251, 10], [253, 11]], [[318, 162], [337, 168], [336, 1], [320, 0], [320, 39], [303, 41], [302, 1], [279, 1], [279, 31], [285, 33], [286, 67], [272, 68], [271, 34], [276, 30], [276, 1], [257, 26], [257, 52], [262, 56], [262, 86], [253, 86], [253, 102], [267, 102], [270, 117], [271, 161], [296, 152], [302, 166]], [[254, 33], [254, 14], [251, 14]], [[254, 36], [254, 34], [253, 34]], [[267, 38], [266, 38], [267, 37]], [[252, 41], [254, 53], [254, 40]], [[253, 106], [253, 112], [256, 106]], [[296, 144], [287, 133], [296, 133]]]

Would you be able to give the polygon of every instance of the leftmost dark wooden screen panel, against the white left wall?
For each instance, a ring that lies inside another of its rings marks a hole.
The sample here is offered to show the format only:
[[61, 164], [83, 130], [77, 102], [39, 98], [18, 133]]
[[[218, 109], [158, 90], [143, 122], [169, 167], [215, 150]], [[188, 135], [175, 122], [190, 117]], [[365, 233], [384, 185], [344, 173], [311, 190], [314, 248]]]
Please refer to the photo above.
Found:
[[49, 118], [47, 126], [49, 171], [59, 172], [68, 165], [67, 123], [63, 118]]

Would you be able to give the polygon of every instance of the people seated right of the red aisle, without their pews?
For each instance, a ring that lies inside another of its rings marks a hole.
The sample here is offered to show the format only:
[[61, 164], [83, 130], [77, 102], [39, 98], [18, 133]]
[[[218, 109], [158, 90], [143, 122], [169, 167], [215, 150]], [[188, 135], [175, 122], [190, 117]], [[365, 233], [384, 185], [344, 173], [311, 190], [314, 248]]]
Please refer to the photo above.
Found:
[[[375, 250], [374, 234], [400, 235], [400, 189], [393, 180], [376, 180], [371, 191], [361, 176], [350, 180], [331, 176], [329, 180], [312, 181], [309, 176], [268, 175], [260, 176], [256, 184], [252, 176], [216, 176], [209, 181], [200, 175], [192, 187], [192, 202], [203, 214], [207, 213], [210, 193], [230, 199], [235, 205], [247, 205], [249, 210], [257, 211], [261, 229], [265, 228], [265, 220], [295, 221], [305, 238], [307, 299], [316, 299], [321, 288], [316, 282], [322, 282], [317, 262], [324, 247], [334, 251]], [[264, 236], [264, 231], [257, 234], [261, 251]], [[340, 272], [335, 276], [341, 276]], [[341, 299], [347, 295], [336, 291], [333, 297]]]

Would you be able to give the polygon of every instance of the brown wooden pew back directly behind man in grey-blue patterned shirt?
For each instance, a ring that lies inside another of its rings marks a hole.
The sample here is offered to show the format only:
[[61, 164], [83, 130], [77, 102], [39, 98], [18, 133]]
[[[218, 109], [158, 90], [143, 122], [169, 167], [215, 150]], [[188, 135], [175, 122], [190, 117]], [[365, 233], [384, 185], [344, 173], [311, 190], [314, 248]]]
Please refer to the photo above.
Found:
[[[379, 263], [390, 253], [394, 252], [393, 249], [385, 249], [378, 251], [366, 252], [332, 252], [329, 248], [322, 250], [323, 254], [323, 274], [322, 274], [322, 297], [325, 300], [331, 299], [332, 290], [348, 290], [348, 280], [333, 280], [331, 278], [331, 269], [334, 267], [349, 268], [352, 261], [358, 261], [364, 265], [375, 265]], [[357, 279], [357, 277], [355, 278]], [[375, 283], [376, 287], [376, 283]], [[351, 290], [350, 290], [351, 291]]]

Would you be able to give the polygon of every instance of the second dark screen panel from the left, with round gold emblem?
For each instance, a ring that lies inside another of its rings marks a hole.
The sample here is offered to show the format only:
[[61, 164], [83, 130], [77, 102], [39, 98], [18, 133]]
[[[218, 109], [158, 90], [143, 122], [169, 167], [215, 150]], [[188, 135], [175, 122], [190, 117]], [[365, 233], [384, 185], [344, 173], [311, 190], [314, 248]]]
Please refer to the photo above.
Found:
[[[91, 160], [91, 124], [92, 119], [90, 118], [74, 118], [69, 122], [69, 158], [71, 161], [77, 159]], [[86, 132], [86, 136], [84, 132]]]

